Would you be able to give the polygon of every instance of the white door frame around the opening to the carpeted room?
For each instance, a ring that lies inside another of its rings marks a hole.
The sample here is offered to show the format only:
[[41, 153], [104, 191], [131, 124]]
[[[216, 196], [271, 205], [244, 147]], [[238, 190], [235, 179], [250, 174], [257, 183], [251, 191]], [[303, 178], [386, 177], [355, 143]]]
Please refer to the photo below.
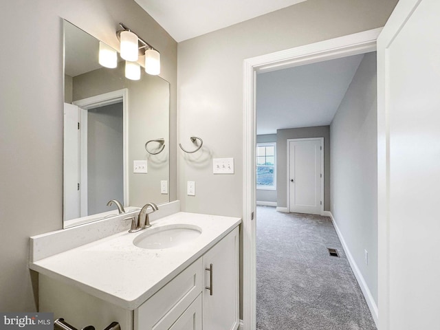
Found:
[[374, 52], [382, 28], [243, 61], [243, 330], [256, 329], [256, 74]]

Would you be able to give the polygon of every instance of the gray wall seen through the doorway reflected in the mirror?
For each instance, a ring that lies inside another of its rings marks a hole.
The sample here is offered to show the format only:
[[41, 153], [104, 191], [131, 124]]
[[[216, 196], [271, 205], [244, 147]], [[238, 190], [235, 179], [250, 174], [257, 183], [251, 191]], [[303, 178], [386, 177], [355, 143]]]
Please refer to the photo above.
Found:
[[87, 214], [96, 214], [124, 200], [122, 102], [87, 112]]

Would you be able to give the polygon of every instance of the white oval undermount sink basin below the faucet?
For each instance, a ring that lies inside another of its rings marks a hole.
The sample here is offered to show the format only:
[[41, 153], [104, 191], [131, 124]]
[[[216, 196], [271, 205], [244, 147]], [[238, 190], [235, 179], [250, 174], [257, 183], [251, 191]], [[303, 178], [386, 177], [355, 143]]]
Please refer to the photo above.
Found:
[[133, 240], [137, 248], [158, 250], [173, 248], [196, 239], [201, 234], [197, 225], [163, 225], [159, 228], [146, 229]]

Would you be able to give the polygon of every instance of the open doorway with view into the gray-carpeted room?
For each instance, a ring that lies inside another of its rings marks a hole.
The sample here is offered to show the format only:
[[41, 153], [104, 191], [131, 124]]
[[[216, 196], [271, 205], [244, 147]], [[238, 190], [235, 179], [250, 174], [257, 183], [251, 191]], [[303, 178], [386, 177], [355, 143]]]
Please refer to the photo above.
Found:
[[[272, 138], [279, 188], [276, 209], [267, 206], [272, 200], [264, 199], [261, 186], [256, 190], [256, 329], [376, 329], [349, 258], [360, 263], [350, 254], [358, 252], [350, 239], [360, 236], [370, 256], [369, 269], [362, 268], [360, 276], [377, 274], [377, 229], [357, 232], [344, 223], [353, 218], [356, 225], [377, 228], [377, 195], [371, 191], [377, 186], [363, 179], [377, 175], [377, 150], [365, 144], [377, 144], [368, 134], [377, 131], [375, 58], [369, 52], [256, 76], [256, 177], [263, 164], [259, 142]], [[373, 197], [362, 203], [371, 214], [356, 219], [358, 195], [366, 192]], [[337, 195], [334, 200], [331, 194]], [[262, 201], [265, 206], [258, 206]], [[322, 217], [331, 212], [334, 217]], [[349, 245], [342, 245], [342, 233], [349, 235]], [[329, 249], [340, 251], [340, 259], [329, 258]], [[367, 281], [365, 289], [377, 294], [374, 281]]]

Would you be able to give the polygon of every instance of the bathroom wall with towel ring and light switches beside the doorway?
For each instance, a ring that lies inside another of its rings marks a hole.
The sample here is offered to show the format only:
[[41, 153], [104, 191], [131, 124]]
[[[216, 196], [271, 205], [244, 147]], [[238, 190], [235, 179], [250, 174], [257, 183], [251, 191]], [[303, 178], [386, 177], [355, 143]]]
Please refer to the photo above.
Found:
[[[179, 142], [203, 139], [203, 151], [179, 150], [181, 208], [241, 217], [243, 212], [243, 60], [384, 26], [397, 0], [309, 0], [179, 43]], [[212, 157], [234, 157], [234, 175], [213, 175]], [[186, 195], [196, 182], [196, 196]], [[215, 189], [214, 189], [215, 188]]]

